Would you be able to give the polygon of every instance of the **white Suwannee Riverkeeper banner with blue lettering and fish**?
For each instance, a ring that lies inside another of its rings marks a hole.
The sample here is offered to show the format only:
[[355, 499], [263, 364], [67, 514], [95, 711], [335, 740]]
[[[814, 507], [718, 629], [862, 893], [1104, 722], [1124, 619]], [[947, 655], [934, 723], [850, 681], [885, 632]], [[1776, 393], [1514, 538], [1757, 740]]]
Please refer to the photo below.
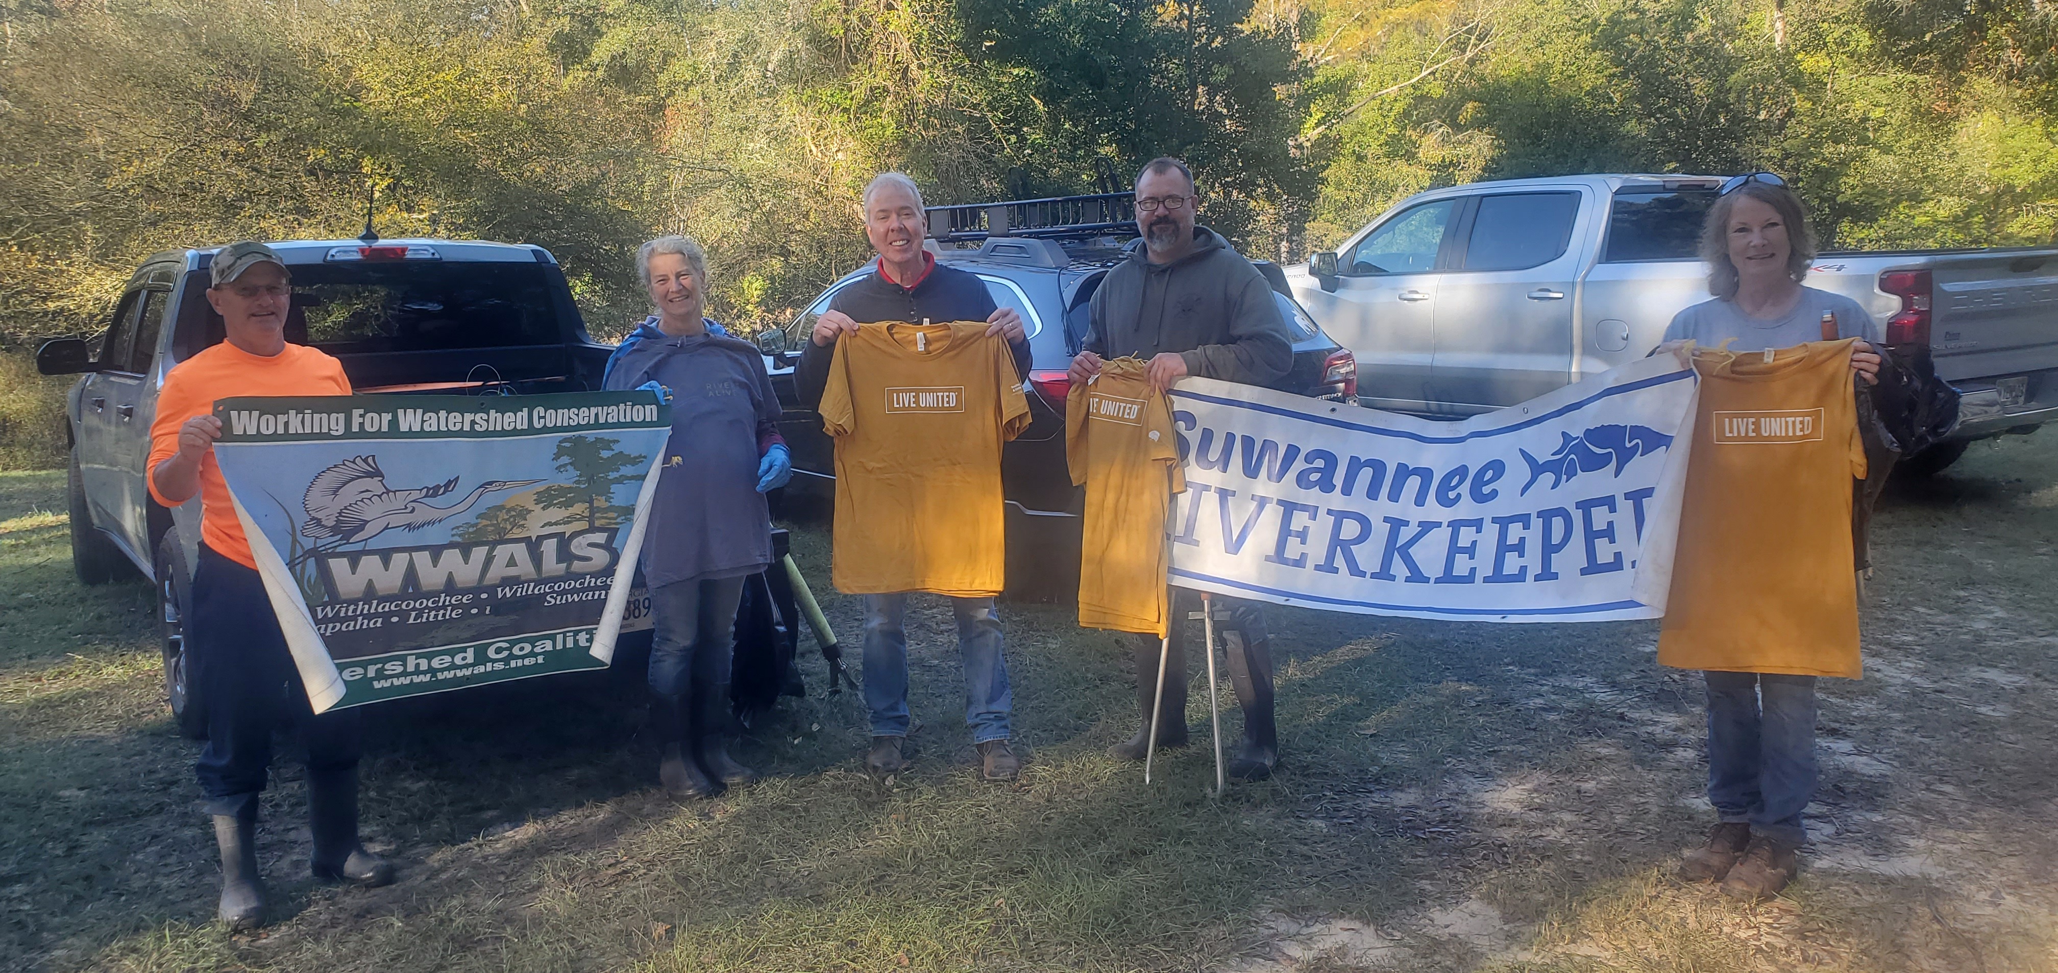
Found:
[[1434, 422], [1185, 379], [1171, 582], [1428, 619], [1661, 617], [1696, 391], [1657, 356]]

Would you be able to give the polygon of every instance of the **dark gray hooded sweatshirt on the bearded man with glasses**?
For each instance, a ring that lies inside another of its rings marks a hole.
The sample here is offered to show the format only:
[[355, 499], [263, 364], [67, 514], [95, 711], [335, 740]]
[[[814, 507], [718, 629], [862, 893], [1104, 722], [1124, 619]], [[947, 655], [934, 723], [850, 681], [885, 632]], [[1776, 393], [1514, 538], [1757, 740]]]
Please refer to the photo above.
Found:
[[1177, 352], [1185, 370], [1272, 385], [1292, 368], [1292, 337], [1272, 286], [1214, 230], [1194, 226], [1194, 253], [1150, 263], [1136, 247], [1093, 292], [1085, 350], [1101, 358]]

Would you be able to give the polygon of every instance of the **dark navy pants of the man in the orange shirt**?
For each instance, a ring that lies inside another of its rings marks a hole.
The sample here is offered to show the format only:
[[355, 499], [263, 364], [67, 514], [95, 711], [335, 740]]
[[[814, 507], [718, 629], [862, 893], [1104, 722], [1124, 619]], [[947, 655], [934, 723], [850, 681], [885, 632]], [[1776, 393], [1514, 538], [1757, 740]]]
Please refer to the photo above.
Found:
[[185, 650], [200, 706], [208, 708], [208, 745], [196, 771], [210, 815], [239, 815], [257, 802], [272, 765], [272, 730], [282, 724], [300, 730], [311, 773], [356, 769], [358, 710], [315, 716], [263, 580], [208, 545], [200, 545], [193, 570]]

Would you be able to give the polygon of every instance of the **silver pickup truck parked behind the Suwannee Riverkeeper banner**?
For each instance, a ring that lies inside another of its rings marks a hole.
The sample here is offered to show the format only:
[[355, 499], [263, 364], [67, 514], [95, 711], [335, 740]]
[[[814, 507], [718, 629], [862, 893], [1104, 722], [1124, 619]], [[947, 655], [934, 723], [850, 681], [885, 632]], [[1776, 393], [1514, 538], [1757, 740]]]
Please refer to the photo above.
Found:
[[[1358, 360], [1358, 401], [1474, 416], [1651, 352], [1708, 300], [1696, 255], [1723, 177], [1570, 175], [1432, 189], [1334, 253], [1288, 267], [1309, 315]], [[1889, 346], [1928, 346], [1959, 389], [1965, 444], [2058, 413], [2058, 247], [1823, 253], [1809, 286], [1846, 294]]]

